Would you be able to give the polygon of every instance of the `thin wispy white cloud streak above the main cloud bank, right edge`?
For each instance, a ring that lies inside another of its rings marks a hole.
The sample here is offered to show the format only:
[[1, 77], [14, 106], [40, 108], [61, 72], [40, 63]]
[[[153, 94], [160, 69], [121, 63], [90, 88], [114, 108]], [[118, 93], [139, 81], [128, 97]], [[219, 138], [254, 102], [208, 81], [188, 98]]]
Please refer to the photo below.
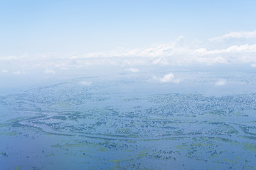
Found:
[[228, 33], [220, 37], [216, 38], [210, 38], [210, 41], [222, 41], [222, 40], [228, 40], [231, 38], [245, 38], [245, 39], [250, 39], [250, 38], [256, 38], [256, 30], [254, 31], [247, 31], [247, 32], [233, 32], [233, 33]]

